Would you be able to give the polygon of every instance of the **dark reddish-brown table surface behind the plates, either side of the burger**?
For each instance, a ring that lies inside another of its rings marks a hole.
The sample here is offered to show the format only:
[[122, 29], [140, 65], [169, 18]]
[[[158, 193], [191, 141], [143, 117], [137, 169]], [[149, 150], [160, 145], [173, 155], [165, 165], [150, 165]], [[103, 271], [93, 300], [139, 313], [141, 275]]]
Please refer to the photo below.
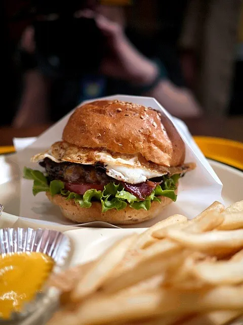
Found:
[[[193, 136], [220, 137], [243, 142], [243, 116], [212, 117], [186, 119], [189, 131]], [[26, 128], [0, 127], [0, 146], [13, 145], [14, 137], [36, 137], [43, 133], [51, 124], [33, 125]]]

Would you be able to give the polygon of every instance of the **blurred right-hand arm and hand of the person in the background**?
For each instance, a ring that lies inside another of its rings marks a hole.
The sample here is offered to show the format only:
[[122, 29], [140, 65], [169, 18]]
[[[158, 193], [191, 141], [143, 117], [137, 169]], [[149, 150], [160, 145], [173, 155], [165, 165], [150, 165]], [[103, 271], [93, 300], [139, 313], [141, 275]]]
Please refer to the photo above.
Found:
[[195, 117], [201, 114], [200, 106], [190, 90], [177, 87], [168, 79], [159, 80], [157, 64], [134, 47], [119, 25], [105, 17], [100, 17], [97, 23], [105, 32], [112, 49], [112, 55], [103, 61], [102, 73], [126, 80], [141, 89], [146, 89], [151, 84], [151, 88], [141, 94], [154, 97], [177, 117]]

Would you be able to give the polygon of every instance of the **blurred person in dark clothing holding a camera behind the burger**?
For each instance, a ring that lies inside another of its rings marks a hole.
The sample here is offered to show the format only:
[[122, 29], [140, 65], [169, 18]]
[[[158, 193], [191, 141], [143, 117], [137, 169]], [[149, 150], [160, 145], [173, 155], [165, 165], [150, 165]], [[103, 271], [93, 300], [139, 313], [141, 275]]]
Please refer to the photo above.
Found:
[[163, 61], [129, 40], [123, 7], [40, 1], [34, 9], [20, 42], [23, 94], [14, 126], [56, 121], [84, 100], [116, 93], [153, 96], [178, 117], [200, 114]]

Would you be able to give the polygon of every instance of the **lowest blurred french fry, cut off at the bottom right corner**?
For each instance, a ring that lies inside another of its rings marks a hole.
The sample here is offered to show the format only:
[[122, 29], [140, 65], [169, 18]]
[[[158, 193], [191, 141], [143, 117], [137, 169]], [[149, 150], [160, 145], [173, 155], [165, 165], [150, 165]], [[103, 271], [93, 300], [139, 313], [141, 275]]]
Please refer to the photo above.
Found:
[[241, 311], [212, 311], [208, 314], [198, 315], [180, 325], [225, 325], [241, 315]]

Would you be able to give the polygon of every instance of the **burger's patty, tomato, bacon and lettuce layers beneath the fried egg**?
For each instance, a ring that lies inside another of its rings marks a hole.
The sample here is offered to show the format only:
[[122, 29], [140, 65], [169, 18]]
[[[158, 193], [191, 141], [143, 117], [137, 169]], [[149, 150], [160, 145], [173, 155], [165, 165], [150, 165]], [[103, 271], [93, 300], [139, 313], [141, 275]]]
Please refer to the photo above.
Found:
[[127, 205], [137, 210], [149, 210], [151, 201], [160, 202], [159, 196], [176, 201], [178, 179], [187, 171], [185, 168], [178, 168], [173, 171], [173, 175], [167, 173], [133, 184], [107, 175], [103, 163], [57, 163], [46, 157], [39, 165], [45, 168], [45, 174], [24, 169], [24, 177], [34, 181], [34, 195], [41, 191], [50, 191], [52, 196], [61, 194], [66, 200], [74, 199], [76, 204], [85, 208], [91, 207], [93, 201], [100, 201], [102, 212], [113, 208], [121, 210]]

